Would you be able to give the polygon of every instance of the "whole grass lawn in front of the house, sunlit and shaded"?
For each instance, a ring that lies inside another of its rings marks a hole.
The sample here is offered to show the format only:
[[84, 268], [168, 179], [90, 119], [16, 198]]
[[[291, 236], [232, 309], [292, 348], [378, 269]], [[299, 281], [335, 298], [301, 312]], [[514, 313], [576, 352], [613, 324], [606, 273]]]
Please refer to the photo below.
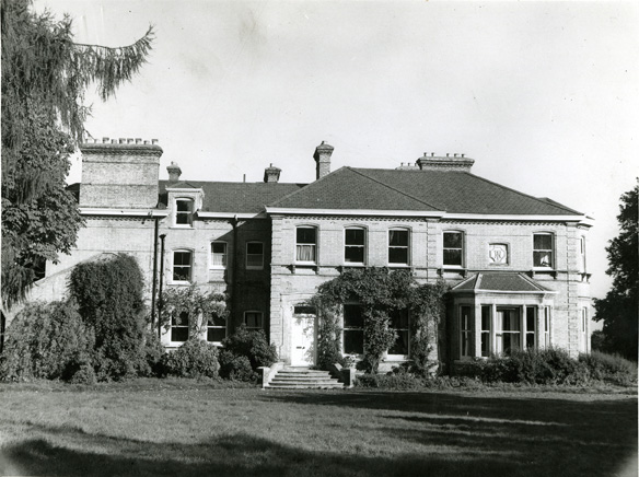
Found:
[[2, 475], [637, 475], [637, 397], [620, 393], [138, 380], [2, 384], [0, 403]]

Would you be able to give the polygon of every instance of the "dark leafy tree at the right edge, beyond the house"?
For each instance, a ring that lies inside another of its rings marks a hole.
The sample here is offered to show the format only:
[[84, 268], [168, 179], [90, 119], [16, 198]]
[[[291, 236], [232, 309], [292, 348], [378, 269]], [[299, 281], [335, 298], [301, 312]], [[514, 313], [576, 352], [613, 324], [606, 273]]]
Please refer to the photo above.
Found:
[[606, 248], [613, 288], [603, 300], [596, 300], [594, 319], [604, 322], [605, 351], [618, 352], [637, 361], [637, 324], [639, 322], [639, 186], [621, 196], [619, 236]]

